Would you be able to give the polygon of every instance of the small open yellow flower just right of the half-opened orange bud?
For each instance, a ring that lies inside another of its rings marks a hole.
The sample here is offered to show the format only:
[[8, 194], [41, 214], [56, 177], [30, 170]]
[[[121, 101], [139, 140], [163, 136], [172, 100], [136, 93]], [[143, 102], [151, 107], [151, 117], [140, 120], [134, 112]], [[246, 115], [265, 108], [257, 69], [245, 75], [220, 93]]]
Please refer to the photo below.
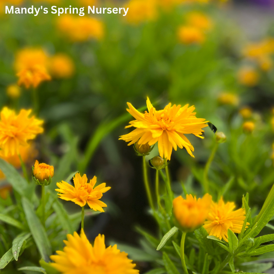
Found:
[[104, 212], [103, 207], [107, 207], [107, 205], [100, 199], [103, 193], [111, 188], [105, 187], [105, 182], [94, 188], [96, 180], [97, 178], [94, 176], [88, 183], [86, 174], [81, 177], [81, 175], [77, 173], [74, 177], [74, 186], [69, 185], [65, 181], [58, 182], [57, 187], [59, 187], [59, 189], [56, 189], [56, 191], [60, 192], [58, 193], [59, 198], [63, 200], [71, 200], [80, 207], [85, 206], [87, 203], [94, 211]]

